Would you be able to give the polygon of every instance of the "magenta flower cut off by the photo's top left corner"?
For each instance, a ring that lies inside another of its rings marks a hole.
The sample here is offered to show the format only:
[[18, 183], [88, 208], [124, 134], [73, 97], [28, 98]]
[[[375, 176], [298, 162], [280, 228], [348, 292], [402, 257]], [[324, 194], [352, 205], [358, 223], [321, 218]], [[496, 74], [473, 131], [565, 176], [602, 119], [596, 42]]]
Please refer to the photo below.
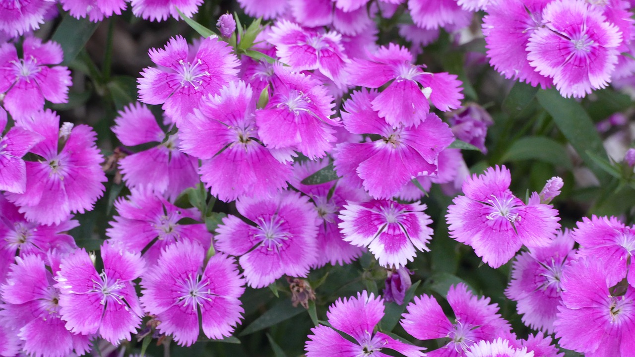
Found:
[[0, 12], [0, 31], [17, 37], [30, 30], [37, 30], [40, 24], [44, 24], [46, 12], [54, 5], [55, 3], [46, 0], [6, 1]]

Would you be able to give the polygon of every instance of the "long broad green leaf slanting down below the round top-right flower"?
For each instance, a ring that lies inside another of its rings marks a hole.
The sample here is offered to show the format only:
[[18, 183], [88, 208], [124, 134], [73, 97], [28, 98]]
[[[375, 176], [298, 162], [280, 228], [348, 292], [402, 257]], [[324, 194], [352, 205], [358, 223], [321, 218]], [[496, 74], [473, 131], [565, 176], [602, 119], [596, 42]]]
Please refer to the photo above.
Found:
[[591, 151], [600, 158], [608, 158], [602, 139], [582, 105], [573, 98], [563, 98], [554, 88], [539, 91], [537, 98], [599, 182], [606, 182], [607, 173], [587, 154]]

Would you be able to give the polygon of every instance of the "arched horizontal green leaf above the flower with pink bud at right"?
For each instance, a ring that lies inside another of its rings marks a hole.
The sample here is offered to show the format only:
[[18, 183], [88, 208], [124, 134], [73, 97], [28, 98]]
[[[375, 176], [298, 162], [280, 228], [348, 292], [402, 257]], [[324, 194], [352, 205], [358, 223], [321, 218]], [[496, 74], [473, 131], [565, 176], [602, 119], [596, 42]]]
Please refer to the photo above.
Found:
[[566, 154], [565, 145], [548, 137], [522, 137], [507, 149], [500, 161], [518, 161], [535, 159], [563, 166], [567, 170], [573, 168], [571, 159]]

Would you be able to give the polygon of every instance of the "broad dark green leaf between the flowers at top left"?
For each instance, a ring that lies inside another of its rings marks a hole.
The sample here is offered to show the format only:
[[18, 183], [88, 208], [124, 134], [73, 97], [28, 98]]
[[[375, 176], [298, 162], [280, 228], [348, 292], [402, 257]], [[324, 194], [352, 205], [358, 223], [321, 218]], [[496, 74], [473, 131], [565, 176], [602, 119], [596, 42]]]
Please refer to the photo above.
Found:
[[91, 22], [88, 17], [77, 19], [70, 16], [69, 13], [64, 16], [51, 37], [51, 40], [59, 43], [64, 51], [64, 61], [61, 65], [67, 66], [77, 57], [99, 24], [100, 22]]

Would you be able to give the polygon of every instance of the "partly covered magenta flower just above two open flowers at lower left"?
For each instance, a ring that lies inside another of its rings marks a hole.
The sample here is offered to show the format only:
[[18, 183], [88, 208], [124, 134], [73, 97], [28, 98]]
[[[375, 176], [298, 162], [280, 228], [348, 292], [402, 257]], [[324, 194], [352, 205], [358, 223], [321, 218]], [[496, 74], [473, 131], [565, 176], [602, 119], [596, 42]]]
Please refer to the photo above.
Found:
[[205, 224], [181, 222], [200, 221], [196, 208], [179, 208], [147, 188], [131, 189], [130, 196], [117, 199], [114, 205], [119, 215], [110, 222], [106, 235], [131, 253], [145, 250], [148, 265], [155, 264], [161, 251], [177, 241], [196, 241], [204, 250], [210, 248], [211, 234]]

